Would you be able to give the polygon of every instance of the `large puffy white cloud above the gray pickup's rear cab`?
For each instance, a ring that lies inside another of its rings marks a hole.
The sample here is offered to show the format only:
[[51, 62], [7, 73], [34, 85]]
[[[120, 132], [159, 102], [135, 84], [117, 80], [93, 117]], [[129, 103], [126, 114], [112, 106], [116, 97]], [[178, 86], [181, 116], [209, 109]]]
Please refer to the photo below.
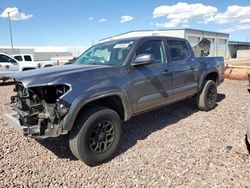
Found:
[[154, 9], [153, 18], [166, 17], [167, 22], [156, 24], [160, 27], [176, 27], [179, 24], [187, 24], [190, 20], [206, 20], [217, 13], [217, 8], [201, 3], [188, 4], [179, 2], [176, 5], [164, 5]]

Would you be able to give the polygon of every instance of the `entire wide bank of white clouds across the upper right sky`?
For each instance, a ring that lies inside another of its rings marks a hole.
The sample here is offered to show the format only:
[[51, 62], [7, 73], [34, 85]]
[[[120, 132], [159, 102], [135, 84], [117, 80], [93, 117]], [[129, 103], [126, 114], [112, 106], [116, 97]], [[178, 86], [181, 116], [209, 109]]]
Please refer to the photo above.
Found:
[[216, 7], [201, 3], [179, 2], [171, 6], [156, 7], [153, 18], [159, 17], [165, 17], [166, 21], [156, 23], [156, 27], [186, 27], [190, 21], [195, 21], [200, 24], [229, 24], [228, 29], [221, 30], [223, 32], [250, 30], [250, 6], [232, 5], [224, 12], [219, 12]]

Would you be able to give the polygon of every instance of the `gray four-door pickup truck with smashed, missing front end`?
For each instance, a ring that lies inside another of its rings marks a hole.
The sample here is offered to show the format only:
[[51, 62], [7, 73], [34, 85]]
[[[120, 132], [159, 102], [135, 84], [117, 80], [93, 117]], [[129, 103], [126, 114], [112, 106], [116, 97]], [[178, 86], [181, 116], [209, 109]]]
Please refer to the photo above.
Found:
[[133, 116], [191, 97], [213, 109], [224, 60], [194, 57], [185, 39], [137, 37], [94, 45], [72, 65], [10, 77], [17, 114], [7, 119], [36, 139], [67, 134], [75, 157], [94, 166], [112, 158], [122, 122]]

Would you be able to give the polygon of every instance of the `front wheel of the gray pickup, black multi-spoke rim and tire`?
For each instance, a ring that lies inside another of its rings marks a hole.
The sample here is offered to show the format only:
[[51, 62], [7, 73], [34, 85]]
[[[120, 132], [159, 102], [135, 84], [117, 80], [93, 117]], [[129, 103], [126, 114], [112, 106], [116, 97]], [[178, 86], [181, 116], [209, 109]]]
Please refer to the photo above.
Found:
[[69, 135], [73, 155], [89, 166], [109, 161], [122, 133], [119, 115], [105, 107], [91, 107], [78, 115]]

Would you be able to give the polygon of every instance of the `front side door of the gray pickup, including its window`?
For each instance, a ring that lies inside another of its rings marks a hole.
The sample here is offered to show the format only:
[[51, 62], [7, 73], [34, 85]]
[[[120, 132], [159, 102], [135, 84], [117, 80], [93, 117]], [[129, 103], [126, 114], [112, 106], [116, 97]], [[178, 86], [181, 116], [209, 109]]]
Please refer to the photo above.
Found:
[[171, 89], [171, 67], [167, 63], [165, 43], [153, 40], [142, 43], [135, 57], [142, 54], [153, 55], [151, 64], [131, 68], [132, 87], [128, 93], [133, 100], [134, 113], [140, 113], [168, 102], [168, 90]]

